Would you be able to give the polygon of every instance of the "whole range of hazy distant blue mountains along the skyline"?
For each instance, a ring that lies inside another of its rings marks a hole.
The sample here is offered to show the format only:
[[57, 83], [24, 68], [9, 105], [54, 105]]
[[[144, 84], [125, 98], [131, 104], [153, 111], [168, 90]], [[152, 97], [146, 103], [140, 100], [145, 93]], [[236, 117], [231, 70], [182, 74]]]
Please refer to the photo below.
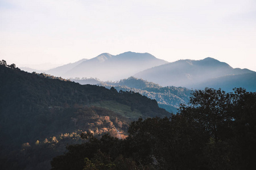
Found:
[[254, 71], [233, 69], [228, 63], [210, 57], [168, 63], [149, 53], [125, 52], [117, 56], [103, 53], [92, 59], [81, 59], [43, 72], [63, 78], [80, 78], [82, 84], [98, 84], [101, 81], [117, 81], [134, 76], [163, 87], [211, 87], [222, 88], [228, 92], [234, 87], [243, 87], [249, 91], [256, 91]]

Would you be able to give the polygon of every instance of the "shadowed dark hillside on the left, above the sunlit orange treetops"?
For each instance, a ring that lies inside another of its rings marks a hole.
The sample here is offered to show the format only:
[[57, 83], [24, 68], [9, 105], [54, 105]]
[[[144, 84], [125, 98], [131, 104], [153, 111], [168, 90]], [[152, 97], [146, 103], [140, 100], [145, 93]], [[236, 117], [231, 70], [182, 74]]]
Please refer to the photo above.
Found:
[[[170, 116], [158, 107], [156, 100], [138, 93], [120, 93], [114, 88], [108, 90], [60, 79], [46, 74], [30, 74], [1, 62], [1, 154], [19, 148], [22, 143], [34, 143], [38, 139], [76, 130], [86, 131], [92, 124], [100, 130], [105, 127], [103, 120], [103, 125], [99, 123], [99, 126], [90, 121], [97, 121], [97, 117], [100, 121], [101, 116], [109, 116], [110, 120], [105, 118], [107, 122], [118, 118], [116, 127], [119, 120], [127, 124], [129, 118]], [[108, 131], [108, 126], [106, 129]]]

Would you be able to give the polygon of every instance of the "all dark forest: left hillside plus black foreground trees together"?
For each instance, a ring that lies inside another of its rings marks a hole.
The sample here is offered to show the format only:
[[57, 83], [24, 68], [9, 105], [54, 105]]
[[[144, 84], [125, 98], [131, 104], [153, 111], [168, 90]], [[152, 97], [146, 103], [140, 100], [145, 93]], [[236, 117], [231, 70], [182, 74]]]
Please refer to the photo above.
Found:
[[3, 169], [256, 166], [256, 93], [243, 88], [195, 90], [170, 114], [137, 92], [29, 74], [2, 60], [0, 89]]

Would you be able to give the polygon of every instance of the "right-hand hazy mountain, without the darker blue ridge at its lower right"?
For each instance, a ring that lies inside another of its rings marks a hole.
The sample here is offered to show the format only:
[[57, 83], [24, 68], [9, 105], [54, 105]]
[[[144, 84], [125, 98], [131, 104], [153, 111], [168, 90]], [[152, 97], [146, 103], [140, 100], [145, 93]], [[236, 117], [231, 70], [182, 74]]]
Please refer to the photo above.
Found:
[[[225, 62], [220, 62], [217, 59], [208, 57], [201, 60], [183, 59], [167, 63], [141, 71], [134, 76], [158, 83], [161, 86], [201, 88], [207, 86], [205, 82], [213, 80], [214, 78], [246, 73], [255, 72], [248, 69], [233, 69]], [[236, 82], [231, 85], [236, 87]], [[222, 88], [222, 86], [220, 87]]]

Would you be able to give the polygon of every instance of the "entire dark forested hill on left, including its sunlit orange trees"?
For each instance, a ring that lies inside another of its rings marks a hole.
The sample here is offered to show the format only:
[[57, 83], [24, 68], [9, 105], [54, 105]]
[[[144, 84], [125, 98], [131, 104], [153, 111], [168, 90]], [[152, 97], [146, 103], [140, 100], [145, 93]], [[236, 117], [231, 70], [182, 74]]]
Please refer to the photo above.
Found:
[[90, 129], [99, 137], [117, 135], [117, 129], [127, 130], [138, 117], [170, 116], [155, 100], [138, 93], [82, 86], [2, 63], [0, 89], [0, 163], [4, 169], [11, 165], [13, 169], [46, 169], [44, 165], [65, 150], [61, 141], [67, 139], [61, 134], [67, 133], [72, 144], [80, 131]]

